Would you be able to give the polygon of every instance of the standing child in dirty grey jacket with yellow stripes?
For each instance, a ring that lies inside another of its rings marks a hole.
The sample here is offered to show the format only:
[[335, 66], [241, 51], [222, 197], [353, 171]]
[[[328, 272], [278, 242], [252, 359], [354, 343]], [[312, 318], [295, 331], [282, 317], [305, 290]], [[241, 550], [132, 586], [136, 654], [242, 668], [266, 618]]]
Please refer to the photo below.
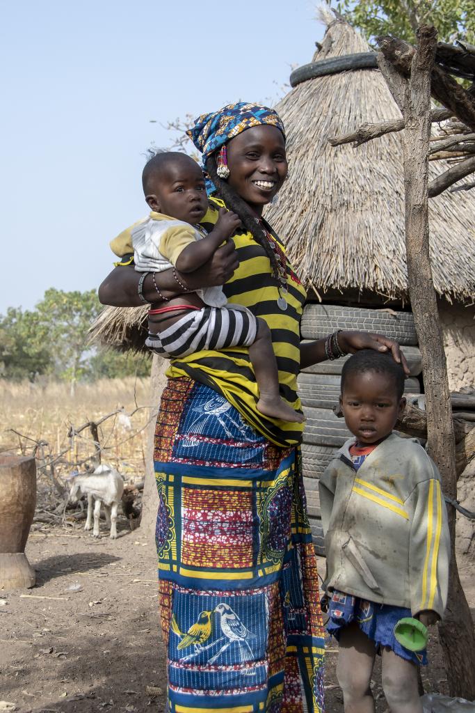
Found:
[[432, 625], [447, 601], [440, 476], [417, 440], [392, 433], [404, 411], [403, 391], [402, 366], [390, 356], [364, 349], [348, 359], [340, 405], [355, 437], [320, 479], [327, 629], [338, 640], [345, 713], [374, 712], [377, 652], [391, 713], [422, 713], [417, 667], [427, 663], [427, 652], [402, 646], [395, 626], [404, 617]]

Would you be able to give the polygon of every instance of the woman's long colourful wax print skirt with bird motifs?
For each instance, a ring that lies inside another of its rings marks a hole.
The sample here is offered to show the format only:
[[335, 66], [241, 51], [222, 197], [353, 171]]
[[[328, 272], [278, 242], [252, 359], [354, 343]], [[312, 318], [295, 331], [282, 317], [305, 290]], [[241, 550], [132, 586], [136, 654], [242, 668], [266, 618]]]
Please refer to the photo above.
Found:
[[155, 438], [170, 713], [320, 713], [324, 632], [298, 448], [170, 379]]

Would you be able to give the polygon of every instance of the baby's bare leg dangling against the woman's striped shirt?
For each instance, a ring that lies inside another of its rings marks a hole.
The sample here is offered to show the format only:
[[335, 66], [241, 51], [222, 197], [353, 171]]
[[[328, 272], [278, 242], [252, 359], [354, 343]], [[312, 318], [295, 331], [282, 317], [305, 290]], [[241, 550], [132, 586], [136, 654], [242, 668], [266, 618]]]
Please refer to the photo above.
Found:
[[249, 347], [249, 357], [259, 386], [257, 410], [273, 419], [299, 423], [304, 421], [302, 414], [288, 406], [278, 393], [278, 370], [272, 348], [271, 330], [263, 319], [257, 319], [256, 339]]

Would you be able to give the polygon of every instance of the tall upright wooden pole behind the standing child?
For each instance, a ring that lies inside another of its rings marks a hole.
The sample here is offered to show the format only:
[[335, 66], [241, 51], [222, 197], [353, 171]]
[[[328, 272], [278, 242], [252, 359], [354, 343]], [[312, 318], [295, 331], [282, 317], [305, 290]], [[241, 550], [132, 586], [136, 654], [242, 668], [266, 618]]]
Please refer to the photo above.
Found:
[[[447, 365], [429, 257], [429, 138], [431, 74], [437, 43], [434, 27], [417, 31], [404, 97], [404, 191], [407, 279], [419, 348], [427, 410], [427, 450], [442, 474], [445, 495], [456, 499], [456, 454]], [[439, 635], [451, 696], [475, 698], [475, 636], [455, 558], [455, 511], [449, 506], [449, 599]]]

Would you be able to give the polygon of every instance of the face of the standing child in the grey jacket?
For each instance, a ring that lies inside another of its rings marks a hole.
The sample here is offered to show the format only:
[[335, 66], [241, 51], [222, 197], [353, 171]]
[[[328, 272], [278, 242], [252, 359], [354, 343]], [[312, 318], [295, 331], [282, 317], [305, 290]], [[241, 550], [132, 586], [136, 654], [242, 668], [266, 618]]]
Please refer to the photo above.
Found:
[[406, 399], [398, 399], [394, 379], [378, 371], [348, 374], [340, 396], [348, 429], [367, 446], [389, 436], [404, 411]]

